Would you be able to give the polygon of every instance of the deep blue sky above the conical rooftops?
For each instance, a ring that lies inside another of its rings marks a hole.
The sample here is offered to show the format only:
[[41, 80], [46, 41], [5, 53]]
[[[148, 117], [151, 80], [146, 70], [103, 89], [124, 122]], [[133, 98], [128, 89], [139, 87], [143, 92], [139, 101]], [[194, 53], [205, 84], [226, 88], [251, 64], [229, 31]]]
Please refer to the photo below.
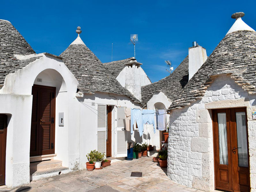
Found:
[[[213, 3], [214, 2], [214, 3]], [[152, 82], [169, 73], [164, 60], [176, 68], [193, 41], [209, 56], [235, 22], [234, 12], [256, 29], [256, 1], [2, 1], [0, 19], [9, 20], [36, 53], [60, 55], [76, 39], [102, 62], [133, 56], [130, 34], [139, 34], [136, 59]], [[3, 9], [4, 8], [4, 9]]]

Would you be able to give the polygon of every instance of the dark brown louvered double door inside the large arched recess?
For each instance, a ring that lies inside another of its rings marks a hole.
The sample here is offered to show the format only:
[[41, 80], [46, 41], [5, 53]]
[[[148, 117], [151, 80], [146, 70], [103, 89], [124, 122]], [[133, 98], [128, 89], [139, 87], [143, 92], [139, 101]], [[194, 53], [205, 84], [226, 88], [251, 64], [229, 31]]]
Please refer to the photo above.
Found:
[[33, 85], [30, 156], [54, 153], [55, 87]]

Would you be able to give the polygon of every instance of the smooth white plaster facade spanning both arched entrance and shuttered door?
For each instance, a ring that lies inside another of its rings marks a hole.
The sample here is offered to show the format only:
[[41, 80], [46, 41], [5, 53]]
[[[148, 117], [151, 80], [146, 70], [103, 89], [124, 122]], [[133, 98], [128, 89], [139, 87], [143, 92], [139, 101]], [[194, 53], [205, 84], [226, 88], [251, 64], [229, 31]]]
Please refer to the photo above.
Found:
[[[77, 80], [62, 60], [48, 54], [6, 76], [0, 89], [0, 113], [7, 114], [5, 184], [15, 187], [30, 182], [31, 94], [33, 84], [56, 87], [55, 154], [68, 172], [86, 167], [86, 154], [97, 149], [97, 105], [140, 108], [124, 95], [95, 92], [76, 97]], [[28, 57], [20, 59], [28, 59]], [[42, 82], [38, 82], [41, 79]], [[95, 105], [92, 105], [94, 103]], [[59, 113], [64, 126], [59, 126]], [[116, 153], [112, 111], [112, 155]], [[66, 171], [67, 172], [67, 171]]]

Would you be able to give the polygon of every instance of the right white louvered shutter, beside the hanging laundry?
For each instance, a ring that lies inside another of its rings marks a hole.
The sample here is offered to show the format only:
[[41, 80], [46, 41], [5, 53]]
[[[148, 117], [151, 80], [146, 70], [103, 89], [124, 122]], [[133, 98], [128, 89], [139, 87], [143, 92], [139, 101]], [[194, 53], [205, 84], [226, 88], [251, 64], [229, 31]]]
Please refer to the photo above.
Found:
[[127, 136], [125, 129], [124, 107], [117, 107], [117, 127], [116, 127], [116, 157], [127, 156]]

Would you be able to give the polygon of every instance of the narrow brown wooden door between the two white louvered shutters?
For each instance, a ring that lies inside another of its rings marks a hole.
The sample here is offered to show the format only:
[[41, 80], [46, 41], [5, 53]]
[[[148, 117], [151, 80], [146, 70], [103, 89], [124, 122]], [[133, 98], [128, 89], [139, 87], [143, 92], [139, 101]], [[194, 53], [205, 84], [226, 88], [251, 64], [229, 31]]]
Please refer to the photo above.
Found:
[[112, 126], [112, 116], [111, 116], [112, 107], [107, 106], [107, 140], [106, 140], [106, 156], [111, 157], [111, 126]]

